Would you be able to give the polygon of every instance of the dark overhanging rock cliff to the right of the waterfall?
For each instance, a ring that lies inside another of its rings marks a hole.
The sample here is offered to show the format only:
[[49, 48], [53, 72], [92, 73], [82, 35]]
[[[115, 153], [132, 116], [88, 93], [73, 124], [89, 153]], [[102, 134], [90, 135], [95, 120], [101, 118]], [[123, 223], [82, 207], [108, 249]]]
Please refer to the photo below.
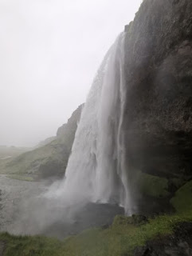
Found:
[[191, 13], [190, 0], [144, 0], [125, 28], [130, 179], [137, 170], [167, 178], [171, 193], [173, 178], [192, 178]]

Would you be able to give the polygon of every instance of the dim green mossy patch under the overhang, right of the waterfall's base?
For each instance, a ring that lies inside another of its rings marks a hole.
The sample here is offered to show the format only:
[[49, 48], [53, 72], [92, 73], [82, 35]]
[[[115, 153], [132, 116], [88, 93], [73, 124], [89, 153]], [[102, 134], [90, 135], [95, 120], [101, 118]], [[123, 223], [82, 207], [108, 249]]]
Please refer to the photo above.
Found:
[[139, 173], [137, 183], [139, 191], [143, 195], [154, 198], [163, 198], [169, 195], [167, 178], [160, 178], [151, 174]]

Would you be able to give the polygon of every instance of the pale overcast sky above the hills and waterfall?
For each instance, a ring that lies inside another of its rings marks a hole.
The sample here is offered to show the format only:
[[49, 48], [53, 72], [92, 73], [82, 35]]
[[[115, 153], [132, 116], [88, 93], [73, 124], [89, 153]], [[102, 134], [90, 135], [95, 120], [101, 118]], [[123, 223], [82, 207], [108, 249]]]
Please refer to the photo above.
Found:
[[0, 0], [0, 145], [53, 136], [141, 0]]

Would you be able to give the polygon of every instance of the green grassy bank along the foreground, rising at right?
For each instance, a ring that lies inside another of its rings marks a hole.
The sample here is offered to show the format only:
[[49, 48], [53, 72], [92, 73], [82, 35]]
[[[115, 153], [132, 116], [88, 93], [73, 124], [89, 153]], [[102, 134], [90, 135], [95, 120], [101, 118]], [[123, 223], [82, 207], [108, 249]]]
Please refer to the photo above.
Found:
[[149, 219], [143, 225], [130, 224], [130, 218], [116, 216], [108, 229], [85, 230], [83, 233], [58, 241], [45, 237], [17, 237], [1, 234], [6, 242], [4, 256], [123, 256], [131, 255], [135, 246], [161, 235], [173, 233], [179, 222], [192, 222], [192, 181], [177, 191], [171, 203], [177, 210], [173, 215]]

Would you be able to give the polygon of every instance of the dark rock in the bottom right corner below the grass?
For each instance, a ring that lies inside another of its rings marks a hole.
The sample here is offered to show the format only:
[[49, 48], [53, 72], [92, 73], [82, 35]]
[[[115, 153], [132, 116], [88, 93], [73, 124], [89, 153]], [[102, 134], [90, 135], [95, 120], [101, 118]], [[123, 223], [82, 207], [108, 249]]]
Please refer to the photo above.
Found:
[[135, 249], [134, 256], [191, 256], [192, 255], [192, 224], [184, 222], [174, 234], [156, 238], [147, 242], [146, 246]]

